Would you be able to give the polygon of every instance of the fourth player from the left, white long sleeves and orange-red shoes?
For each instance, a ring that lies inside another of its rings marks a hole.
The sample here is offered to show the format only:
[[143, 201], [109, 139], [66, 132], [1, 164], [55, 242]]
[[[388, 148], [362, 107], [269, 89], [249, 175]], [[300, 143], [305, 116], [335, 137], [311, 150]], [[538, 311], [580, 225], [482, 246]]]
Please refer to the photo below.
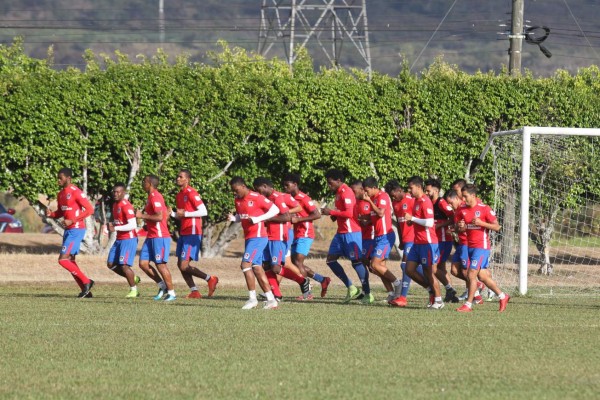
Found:
[[190, 186], [192, 173], [182, 169], [177, 174], [176, 183], [179, 193], [175, 197], [177, 210], [171, 212], [171, 217], [180, 221], [179, 238], [177, 239], [177, 267], [190, 288], [188, 299], [199, 299], [202, 296], [194, 282], [194, 276], [204, 279], [208, 284], [208, 297], [212, 297], [219, 283], [217, 276], [210, 276], [200, 269], [190, 265], [198, 261], [202, 249], [202, 217], [208, 215], [206, 206], [198, 192]]

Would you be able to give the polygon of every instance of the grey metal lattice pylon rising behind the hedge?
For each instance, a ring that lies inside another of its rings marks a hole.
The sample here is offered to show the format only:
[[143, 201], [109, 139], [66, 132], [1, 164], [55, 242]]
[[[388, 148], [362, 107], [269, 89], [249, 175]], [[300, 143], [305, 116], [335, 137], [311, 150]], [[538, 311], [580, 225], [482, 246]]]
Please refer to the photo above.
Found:
[[259, 54], [266, 56], [275, 43], [283, 43], [292, 66], [296, 49], [311, 41], [335, 67], [340, 65], [342, 45], [350, 42], [371, 77], [366, 0], [262, 0]]

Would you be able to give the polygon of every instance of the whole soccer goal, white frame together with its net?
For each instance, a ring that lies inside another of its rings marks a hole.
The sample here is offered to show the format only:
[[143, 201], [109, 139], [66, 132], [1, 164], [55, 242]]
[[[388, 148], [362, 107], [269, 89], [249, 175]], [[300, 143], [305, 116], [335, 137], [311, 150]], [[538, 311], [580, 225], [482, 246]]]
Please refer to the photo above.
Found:
[[600, 129], [495, 132], [492, 274], [521, 294], [600, 295]]

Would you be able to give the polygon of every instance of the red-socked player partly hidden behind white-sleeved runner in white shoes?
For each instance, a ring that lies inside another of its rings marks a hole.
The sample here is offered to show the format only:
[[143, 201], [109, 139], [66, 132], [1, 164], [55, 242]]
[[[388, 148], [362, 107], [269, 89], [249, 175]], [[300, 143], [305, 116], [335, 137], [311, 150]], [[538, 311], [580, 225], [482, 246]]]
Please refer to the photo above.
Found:
[[285, 255], [287, 254], [288, 224], [291, 220], [285, 196], [283, 193], [275, 191], [273, 183], [264, 177], [256, 178], [252, 186], [254, 186], [256, 192], [271, 200], [279, 209], [279, 213], [276, 216], [266, 221], [269, 243], [265, 247], [263, 255], [263, 262], [269, 268], [265, 274], [267, 275], [274, 296], [281, 298], [279, 282], [277, 281], [277, 275], [280, 275], [296, 282], [300, 286], [302, 296], [298, 300], [312, 300], [313, 297], [310, 293], [308, 278], [287, 269], [283, 265], [285, 264]]

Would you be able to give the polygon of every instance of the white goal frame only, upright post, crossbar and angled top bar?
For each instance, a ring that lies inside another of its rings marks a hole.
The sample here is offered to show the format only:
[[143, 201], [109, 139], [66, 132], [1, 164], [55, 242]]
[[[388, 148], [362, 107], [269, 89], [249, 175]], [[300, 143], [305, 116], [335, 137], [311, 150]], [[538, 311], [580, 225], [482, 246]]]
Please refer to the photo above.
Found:
[[522, 168], [521, 168], [521, 219], [519, 232], [519, 293], [527, 294], [528, 273], [528, 247], [529, 247], [529, 182], [531, 168], [531, 135], [556, 135], [556, 136], [598, 136], [600, 128], [560, 128], [543, 126], [524, 126], [511, 131], [494, 132], [490, 135], [485, 145], [480, 160], [483, 161], [495, 138], [507, 135], [520, 135], [522, 137]]

